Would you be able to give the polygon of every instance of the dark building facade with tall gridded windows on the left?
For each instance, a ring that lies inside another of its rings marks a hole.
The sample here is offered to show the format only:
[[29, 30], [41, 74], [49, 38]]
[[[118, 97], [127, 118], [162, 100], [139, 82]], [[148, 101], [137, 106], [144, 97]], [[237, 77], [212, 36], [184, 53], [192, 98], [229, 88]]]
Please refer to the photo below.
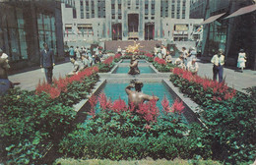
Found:
[[60, 1], [0, 2], [0, 48], [9, 55], [12, 70], [39, 66], [46, 42], [57, 60], [64, 59]]

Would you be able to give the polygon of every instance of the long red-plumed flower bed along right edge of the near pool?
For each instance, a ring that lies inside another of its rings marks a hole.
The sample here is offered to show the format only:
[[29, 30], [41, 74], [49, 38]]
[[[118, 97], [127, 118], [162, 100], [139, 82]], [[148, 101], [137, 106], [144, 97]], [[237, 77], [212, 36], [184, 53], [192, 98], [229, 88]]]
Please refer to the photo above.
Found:
[[213, 141], [213, 158], [231, 164], [252, 163], [255, 151], [255, 97], [175, 68], [170, 82], [201, 105], [200, 114]]

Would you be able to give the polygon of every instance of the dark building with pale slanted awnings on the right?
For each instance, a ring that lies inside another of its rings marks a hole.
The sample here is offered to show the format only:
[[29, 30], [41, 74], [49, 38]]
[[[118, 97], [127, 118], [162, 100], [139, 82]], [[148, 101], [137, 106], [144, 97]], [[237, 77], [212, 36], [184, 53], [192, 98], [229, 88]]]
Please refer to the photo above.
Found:
[[[210, 61], [219, 48], [225, 64], [236, 67], [239, 49], [248, 58], [246, 67], [256, 70], [256, 4], [253, 0], [191, 0], [190, 16], [204, 18], [202, 59]], [[201, 12], [200, 12], [201, 11]], [[199, 13], [199, 15], [197, 15]]]

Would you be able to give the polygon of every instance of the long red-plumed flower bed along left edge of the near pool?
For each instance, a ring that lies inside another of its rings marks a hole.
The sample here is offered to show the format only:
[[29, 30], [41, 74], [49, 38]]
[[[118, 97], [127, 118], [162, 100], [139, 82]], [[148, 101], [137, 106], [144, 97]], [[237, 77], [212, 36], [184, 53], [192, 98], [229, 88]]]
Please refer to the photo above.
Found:
[[[1, 97], [0, 161], [40, 164], [50, 141], [57, 143], [72, 129], [72, 105], [86, 98], [98, 80], [96, 67], [70, 78], [38, 83], [35, 91], [14, 88]], [[36, 93], [36, 94], [34, 94]]]

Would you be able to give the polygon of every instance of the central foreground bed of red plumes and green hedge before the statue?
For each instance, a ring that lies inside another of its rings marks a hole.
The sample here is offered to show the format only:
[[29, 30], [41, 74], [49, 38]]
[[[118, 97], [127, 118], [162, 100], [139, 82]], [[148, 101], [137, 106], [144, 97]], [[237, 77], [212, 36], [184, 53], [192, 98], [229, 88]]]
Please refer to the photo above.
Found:
[[[96, 105], [96, 97], [92, 101]], [[128, 107], [120, 98], [109, 101], [104, 94], [98, 97], [100, 112], [60, 142], [60, 152], [76, 158], [96, 159], [188, 159], [209, 158], [209, 141], [198, 124], [186, 125], [180, 112], [182, 102], [170, 107], [168, 100], [156, 107], [156, 100], [140, 104], [139, 109]], [[199, 156], [200, 155], [200, 156]]]

